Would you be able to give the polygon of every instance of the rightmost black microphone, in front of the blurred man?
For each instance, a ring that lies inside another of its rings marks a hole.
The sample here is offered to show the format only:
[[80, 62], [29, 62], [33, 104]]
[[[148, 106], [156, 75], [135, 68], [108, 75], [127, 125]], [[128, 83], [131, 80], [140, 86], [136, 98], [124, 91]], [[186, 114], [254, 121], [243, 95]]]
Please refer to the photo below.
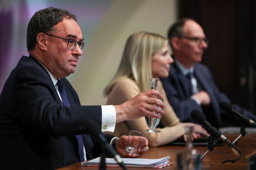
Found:
[[250, 125], [256, 126], [256, 123], [255, 123], [252, 119], [250, 119], [250, 118], [246, 117], [245, 115], [242, 115], [241, 113], [239, 113], [236, 109], [234, 109], [234, 108], [232, 107], [231, 104], [229, 104], [229, 103], [227, 103], [227, 102], [225, 102], [225, 101], [220, 102], [220, 108], [222, 108], [222, 109], [225, 110], [226, 112], [233, 113], [233, 114], [237, 115], [237, 116], [240, 117], [245, 123], [249, 123]]

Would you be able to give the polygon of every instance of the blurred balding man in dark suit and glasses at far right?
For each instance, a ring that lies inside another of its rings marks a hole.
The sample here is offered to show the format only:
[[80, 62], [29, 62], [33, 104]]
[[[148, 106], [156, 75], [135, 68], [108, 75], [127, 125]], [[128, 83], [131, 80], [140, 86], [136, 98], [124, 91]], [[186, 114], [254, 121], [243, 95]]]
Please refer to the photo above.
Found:
[[[171, 64], [169, 77], [161, 81], [169, 103], [181, 122], [194, 122], [191, 111], [198, 109], [214, 126], [221, 127], [221, 120], [227, 120], [229, 116], [220, 109], [219, 103], [231, 102], [216, 87], [211, 71], [200, 63], [208, 47], [203, 28], [190, 18], [182, 18], [170, 27], [168, 38], [174, 63]], [[256, 116], [249, 111], [237, 105], [233, 107], [256, 120]]]

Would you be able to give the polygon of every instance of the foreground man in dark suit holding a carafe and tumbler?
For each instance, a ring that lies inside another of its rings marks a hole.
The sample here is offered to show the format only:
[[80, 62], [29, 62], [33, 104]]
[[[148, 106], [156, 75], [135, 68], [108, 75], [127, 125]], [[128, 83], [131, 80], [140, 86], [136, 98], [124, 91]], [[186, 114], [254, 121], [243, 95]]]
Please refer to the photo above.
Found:
[[[75, 72], [82, 41], [76, 16], [66, 10], [46, 8], [30, 19], [29, 57], [21, 57], [0, 95], [0, 169], [56, 169], [92, 159], [101, 149], [88, 135], [85, 120], [113, 132], [116, 122], [145, 115], [160, 118], [149, 110], [164, 114], [151, 105], [164, 107], [152, 98], [163, 97], [155, 90], [118, 106], [81, 106], [65, 77]], [[138, 158], [148, 150], [146, 141], [139, 153], [129, 154], [127, 136], [106, 138], [121, 156]]]

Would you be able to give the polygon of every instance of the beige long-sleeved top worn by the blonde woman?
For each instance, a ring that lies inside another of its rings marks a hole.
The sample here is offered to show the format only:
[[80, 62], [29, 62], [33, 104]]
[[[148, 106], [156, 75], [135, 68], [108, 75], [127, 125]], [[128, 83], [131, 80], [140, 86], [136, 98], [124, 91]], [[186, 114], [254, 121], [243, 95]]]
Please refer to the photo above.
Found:
[[[157, 83], [157, 90], [163, 95], [165, 105], [165, 114], [161, 118], [164, 128], [157, 128], [157, 130], [161, 131], [160, 133], [144, 132], [143, 130], [148, 129], [148, 125], [145, 118], [141, 117], [133, 121], [117, 123], [114, 133], [108, 134], [120, 137], [122, 135], [128, 135], [130, 130], [137, 130], [148, 138], [149, 146], [168, 144], [178, 137], [181, 137], [185, 133], [185, 125], [180, 122], [179, 118], [176, 116], [172, 107], [170, 106], [160, 80]], [[109, 93], [107, 105], [120, 105], [140, 93], [139, 86], [134, 80], [130, 78], [121, 78]]]

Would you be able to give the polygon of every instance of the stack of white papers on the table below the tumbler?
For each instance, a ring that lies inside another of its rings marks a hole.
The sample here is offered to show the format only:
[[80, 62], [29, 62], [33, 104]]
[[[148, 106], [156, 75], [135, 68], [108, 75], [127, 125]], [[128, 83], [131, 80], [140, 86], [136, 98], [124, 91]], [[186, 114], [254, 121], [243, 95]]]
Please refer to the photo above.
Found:
[[[123, 158], [123, 163], [127, 167], [155, 167], [155, 168], [162, 168], [168, 165], [172, 165], [169, 163], [169, 159], [171, 156], [167, 156], [160, 159], [139, 159], [139, 158]], [[106, 166], [116, 167], [119, 166], [115, 159], [113, 158], [106, 158], [105, 160]], [[100, 157], [92, 159], [88, 162], [82, 162], [83, 166], [99, 166], [100, 165]]]

